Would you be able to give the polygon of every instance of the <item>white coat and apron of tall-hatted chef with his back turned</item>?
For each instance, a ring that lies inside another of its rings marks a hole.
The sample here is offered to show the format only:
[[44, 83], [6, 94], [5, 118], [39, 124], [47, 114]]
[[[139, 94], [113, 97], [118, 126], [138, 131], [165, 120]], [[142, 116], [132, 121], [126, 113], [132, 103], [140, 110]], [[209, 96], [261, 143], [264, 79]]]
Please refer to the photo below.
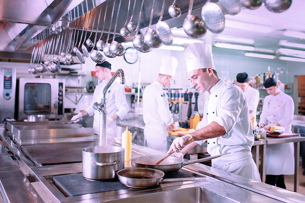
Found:
[[167, 94], [159, 81], [147, 86], [143, 93], [144, 137], [149, 148], [167, 152], [167, 125], [174, 122]]

